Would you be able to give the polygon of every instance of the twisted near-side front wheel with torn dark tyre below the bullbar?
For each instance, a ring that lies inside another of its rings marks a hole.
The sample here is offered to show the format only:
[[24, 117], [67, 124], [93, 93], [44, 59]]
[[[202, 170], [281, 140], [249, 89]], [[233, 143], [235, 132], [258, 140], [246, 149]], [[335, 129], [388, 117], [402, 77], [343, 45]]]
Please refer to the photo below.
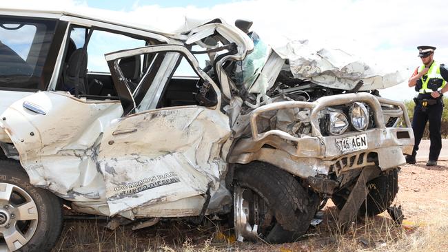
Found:
[[238, 240], [294, 242], [307, 231], [319, 203], [316, 193], [307, 193], [291, 174], [273, 165], [252, 162], [235, 171]]

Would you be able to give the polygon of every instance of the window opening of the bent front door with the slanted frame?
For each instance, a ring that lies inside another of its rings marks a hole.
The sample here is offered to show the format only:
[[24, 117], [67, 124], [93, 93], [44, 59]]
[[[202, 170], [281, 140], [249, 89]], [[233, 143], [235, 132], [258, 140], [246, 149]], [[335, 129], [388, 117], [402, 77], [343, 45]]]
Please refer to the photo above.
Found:
[[[183, 54], [159, 52], [145, 54], [145, 59], [147, 68], [143, 69], [143, 76], [133, 91], [136, 112], [188, 105], [211, 107], [216, 103], [213, 88], [198, 76]], [[132, 89], [133, 84], [128, 80], [127, 85]], [[202, 97], [199, 93], [203, 85], [207, 89]]]

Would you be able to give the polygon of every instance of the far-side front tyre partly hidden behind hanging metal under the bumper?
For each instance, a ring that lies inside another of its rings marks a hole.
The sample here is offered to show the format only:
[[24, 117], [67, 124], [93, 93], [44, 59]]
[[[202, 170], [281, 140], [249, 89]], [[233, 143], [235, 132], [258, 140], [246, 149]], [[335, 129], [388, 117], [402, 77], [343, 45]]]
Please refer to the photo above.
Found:
[[[360, 215], [367, 213], [367, 216], [376, 216], [383, 213], [394, 202], [398, 193], [398, 169], [387, 171], [378, 178], [370, 180], [367, 182], [367, 186], [370, 191], [358, 213]], [[332, 201], [338, 209], [343, 209], [349, 194], [349, 189], [343, 189], [332, 196]]]

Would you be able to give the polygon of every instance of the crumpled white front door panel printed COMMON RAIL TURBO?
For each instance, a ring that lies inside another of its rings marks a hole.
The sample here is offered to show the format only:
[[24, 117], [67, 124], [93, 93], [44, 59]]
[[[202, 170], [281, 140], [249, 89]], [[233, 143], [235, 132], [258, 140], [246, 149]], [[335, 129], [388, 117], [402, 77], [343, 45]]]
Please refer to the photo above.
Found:
[[156, 109], [117, 121], [105, 132], [98, 158], [111, 214], [218, 187], [229, 137], [227, 116], [205, 107]]

